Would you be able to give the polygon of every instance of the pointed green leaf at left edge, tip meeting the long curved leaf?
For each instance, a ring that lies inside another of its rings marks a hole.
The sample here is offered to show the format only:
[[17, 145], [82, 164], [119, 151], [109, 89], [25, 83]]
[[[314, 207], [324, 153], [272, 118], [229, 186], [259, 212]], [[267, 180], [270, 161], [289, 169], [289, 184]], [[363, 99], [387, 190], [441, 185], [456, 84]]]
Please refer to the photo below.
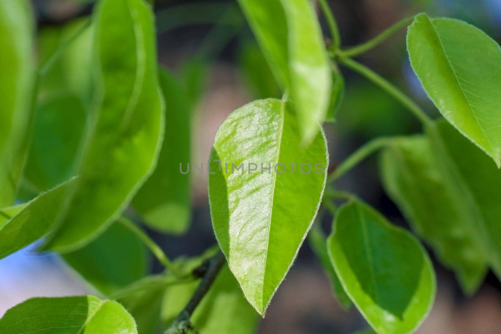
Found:
[[30, 245], [55, 228], [61, 204], [75, 181], [71, 179], [23, 204], [23, 209], [0, 228], [0, 259]]

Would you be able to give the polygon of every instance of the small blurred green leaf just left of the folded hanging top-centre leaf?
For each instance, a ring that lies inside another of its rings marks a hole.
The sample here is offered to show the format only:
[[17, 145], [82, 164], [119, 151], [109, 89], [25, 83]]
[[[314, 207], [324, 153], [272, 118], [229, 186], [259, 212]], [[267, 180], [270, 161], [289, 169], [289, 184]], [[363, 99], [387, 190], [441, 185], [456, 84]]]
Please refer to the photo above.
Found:
[[270, 65], [257, 44], [245, 43], [238, 53], [244, 83], [256, 99], [280, 98], [281, 91]]

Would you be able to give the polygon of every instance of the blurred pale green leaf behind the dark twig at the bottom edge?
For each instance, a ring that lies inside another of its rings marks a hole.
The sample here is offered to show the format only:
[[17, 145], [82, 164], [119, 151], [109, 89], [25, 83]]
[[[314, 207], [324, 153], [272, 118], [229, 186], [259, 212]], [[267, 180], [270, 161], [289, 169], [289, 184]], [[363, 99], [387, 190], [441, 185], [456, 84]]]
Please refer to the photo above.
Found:
[[[165, 326], [179, 314], [198, 284], [195, 281], [167, 287], [161, 313]], [[258, 320], [258, 313], [245, 300], [226, 264], [191, 316], [195, 329], [203, 334], [253, 334]]]

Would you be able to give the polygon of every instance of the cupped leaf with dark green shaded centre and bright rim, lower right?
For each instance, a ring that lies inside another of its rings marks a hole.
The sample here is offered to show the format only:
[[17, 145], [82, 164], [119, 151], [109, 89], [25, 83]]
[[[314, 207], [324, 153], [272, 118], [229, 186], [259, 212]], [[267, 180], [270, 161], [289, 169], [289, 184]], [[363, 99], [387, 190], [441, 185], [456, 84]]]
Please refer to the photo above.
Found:
[[351, 201], [338, 210], [328, 249], [346, 292], [378, 333], [410, 333], [427, 316], [435, 274], [410, 233]]

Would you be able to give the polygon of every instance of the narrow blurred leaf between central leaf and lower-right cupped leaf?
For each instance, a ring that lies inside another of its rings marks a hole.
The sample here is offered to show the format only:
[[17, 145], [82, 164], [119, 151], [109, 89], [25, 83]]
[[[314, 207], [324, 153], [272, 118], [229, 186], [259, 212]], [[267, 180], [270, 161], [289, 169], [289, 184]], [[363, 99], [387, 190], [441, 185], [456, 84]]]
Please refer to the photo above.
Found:
[[331, 259], [329, 258], [329, 253], [327, 251], [327, 237], [325, 236], [324, 231], [322, 231], [318, 222], [313, 225], [313, 228], [308, 234], [308, 241], [313, 252], [320, 261], [320, 264], [322, 265], [324, 271], [329, 276], [334, 296], [344, 309], [350, 309], [353, 306], [353, 302], [346, 294], [346, 291], [344, 290], [344, 287], [341, 284], [336, 271], [334, 270]]

